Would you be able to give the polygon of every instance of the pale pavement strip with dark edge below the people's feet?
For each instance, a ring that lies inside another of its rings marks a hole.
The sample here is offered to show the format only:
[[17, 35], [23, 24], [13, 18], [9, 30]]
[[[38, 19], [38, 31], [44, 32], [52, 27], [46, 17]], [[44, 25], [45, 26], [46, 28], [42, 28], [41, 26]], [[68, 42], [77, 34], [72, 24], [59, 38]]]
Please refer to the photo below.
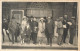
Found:
[[54, 43], [52, 46], [46, 44], [21, 44], [21, 43], [14, 43], [5, 42], [2, 44], [2, 49], [65, 49], [65, 50], [78, 50], [78, 46], [72, 44], [62, 44], [61, 46]]

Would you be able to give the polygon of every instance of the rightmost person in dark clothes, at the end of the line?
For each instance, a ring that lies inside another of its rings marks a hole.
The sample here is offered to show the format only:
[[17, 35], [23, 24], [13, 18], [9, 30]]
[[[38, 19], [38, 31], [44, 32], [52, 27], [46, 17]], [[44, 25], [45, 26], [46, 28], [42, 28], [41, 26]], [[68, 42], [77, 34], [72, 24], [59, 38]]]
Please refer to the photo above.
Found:
[[73, 44], [73, 39], [76, 36], [76, 23], [75, 23], [75, 17], [72, 17], [71, 23], [72, 25], [70, 26], [70, 44]]

